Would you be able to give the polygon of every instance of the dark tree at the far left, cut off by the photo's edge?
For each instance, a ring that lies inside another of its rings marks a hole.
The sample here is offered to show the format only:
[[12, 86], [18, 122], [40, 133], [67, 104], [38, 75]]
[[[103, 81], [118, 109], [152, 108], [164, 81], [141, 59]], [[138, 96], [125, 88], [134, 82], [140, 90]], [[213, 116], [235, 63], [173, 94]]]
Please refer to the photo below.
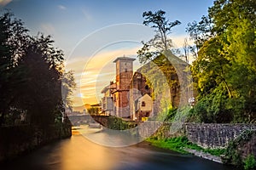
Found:
[[15, 67], [26, 47], [27, 31], [20, 20], [13, 19], [13, 14], [0, 16], [0, 126], [14, 102], [15, 85], [20, 83]]

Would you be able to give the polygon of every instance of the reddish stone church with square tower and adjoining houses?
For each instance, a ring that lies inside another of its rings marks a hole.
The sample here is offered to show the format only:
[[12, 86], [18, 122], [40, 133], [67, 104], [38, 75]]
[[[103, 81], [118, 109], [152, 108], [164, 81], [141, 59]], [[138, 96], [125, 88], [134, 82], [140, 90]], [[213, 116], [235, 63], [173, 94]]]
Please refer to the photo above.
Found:
[[[172, 88], [169, 89], [169, 99], [172, 101], [172, 106], [178, 107], [180, 103], [186, 104], [190, 96], [180, 95], [187, 91], [187, 88], [182, 86], [186, 84], [184, 82], [187, 82], [187, 75], [184, 70], [188, 64], [173, 54], [170, 56], [172, 64], [170, 62], [169, 65], [173, 73], [170, 77], [166, 77], [166, 75], [164, 77], [176, 82], [172, 83]], [[152, 69], [150, 62], [133, 72], [134, 60], [125, 56], [113, 60], [113, 63], [116, 64], [115, 82], [110, 82], [107, 87], [102, 89], [102, 94], [104, 94], [102, 112], [105, 115], [142, 121], [160, 112], [160, 100], [154, 99], [153, 101], [153, 89], [148, 87], [146, 77], [143, 74], [143, 72]], [[151, 63], [154, 64], [154, 61]], [[156, 66], [160, 67], [159, 65]]]

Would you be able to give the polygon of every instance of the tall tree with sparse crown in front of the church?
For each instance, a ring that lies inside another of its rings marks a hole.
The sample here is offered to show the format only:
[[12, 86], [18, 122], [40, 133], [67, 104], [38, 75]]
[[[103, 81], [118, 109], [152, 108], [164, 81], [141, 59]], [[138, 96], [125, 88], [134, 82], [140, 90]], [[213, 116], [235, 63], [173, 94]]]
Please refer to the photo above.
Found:
[[[153, 98], [157, 103], [165, 104], [166, 102], [160, 100], [171, 99], [172, 102], [167, 102], [170, 104], [165, 105], [165, 108], [172, 108], [177, 107], [179, 102], [179, 82], [176, 70], [168, 59], [171, 56], [166, 56], [172, 48], [172, 40], [167, 36], [172, 32], [172, 27], [180, 25], [181, 22], [166, 20], [165, 14], [162, 10], [143, 13], [143, 24], [154, 28], [156, 34], [148, 42], [143, 42], [143, 48], [137, 51], [137, 57], [142, 64], [149, 62], [143, 67], [142, 73], [148, 80], [148, 86], [154, 91]], [[174, 56], [172, 53], [171, 55]]]

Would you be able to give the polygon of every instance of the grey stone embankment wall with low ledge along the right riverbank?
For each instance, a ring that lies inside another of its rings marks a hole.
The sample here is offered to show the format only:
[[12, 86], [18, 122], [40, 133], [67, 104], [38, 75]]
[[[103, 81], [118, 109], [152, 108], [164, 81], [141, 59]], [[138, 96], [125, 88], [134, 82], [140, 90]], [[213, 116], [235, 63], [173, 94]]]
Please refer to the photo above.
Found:
[[[234, 141], [243, 132], [255, 130], [256, 124], [218, 124], [218, 123], [184, 123], [180, 129], [173, 128], [169, 122], [145, 122], [141, 125], [139, 133], [143, 137], [153, 134], [156, 139], [168, 139], [177, 136], [186, 136], [190, 142], [205, 149], [224, 149], [230, 141]], [[157, 130], [155, 130], [157, 129]], [[173, 130], [175, 129], [175, 130]], [[241, 157], [245, 158], [250, 154], [256, 156], [256, 133], [253, 137], [238, 144]], [[218, 156], [212, 156], [202, 151], [186, 149], [195, 156], [200, 156], [212, 161], [221, 162]]]

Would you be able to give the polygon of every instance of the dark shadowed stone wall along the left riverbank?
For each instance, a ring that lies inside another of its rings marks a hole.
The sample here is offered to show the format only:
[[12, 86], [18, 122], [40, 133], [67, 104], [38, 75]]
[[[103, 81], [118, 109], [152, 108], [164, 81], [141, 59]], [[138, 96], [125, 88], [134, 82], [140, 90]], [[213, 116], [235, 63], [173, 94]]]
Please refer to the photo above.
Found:
[[0, 127], [0, 161], [13, 159], [56, 139], [71, 137], [71, 125]]

